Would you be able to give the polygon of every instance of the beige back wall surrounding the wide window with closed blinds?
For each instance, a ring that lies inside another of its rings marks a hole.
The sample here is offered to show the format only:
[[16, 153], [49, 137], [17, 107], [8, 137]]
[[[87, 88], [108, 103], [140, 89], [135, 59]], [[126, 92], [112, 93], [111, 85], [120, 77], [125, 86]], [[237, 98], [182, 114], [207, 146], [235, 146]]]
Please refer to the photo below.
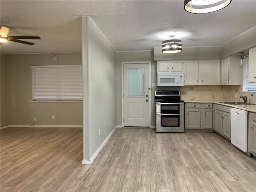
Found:
[[[57, 55], [58, 60], [53, 57]], [[31, 65], [82, 64], [82, 53], [5, 55], [9, 125], [82, 125], [82, 102], [31, 102]], [[2, 102], [2, 100], [1, 100]], [[52, 120], [52, 115], [55, 119]]]

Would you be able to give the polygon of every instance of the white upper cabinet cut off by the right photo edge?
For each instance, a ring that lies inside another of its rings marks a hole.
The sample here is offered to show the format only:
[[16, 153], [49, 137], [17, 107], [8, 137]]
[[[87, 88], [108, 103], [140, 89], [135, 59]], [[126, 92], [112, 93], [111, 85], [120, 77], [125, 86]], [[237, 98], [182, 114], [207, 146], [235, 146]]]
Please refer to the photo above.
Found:
[[256, 47], [249, 49], [249, 83], [256, 82]]

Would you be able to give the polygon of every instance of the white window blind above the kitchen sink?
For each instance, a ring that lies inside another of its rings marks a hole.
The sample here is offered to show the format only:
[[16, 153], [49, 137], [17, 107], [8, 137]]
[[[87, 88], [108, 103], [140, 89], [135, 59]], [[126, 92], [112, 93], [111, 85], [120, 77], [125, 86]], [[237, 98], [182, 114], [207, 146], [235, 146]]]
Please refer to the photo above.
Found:
[[256, 91], [256, 83], [249, 83], [249, 56], [243, 60], [243, 91]]

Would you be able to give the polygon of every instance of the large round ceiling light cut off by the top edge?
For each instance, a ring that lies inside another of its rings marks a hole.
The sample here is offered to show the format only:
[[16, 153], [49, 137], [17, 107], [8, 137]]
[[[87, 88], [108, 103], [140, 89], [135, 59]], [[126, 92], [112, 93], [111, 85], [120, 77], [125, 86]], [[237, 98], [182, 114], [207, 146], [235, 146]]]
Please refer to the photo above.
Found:
[[190, 13], [210, 13], [225, 8], [231, 0], [185, 0], [184, 9]]

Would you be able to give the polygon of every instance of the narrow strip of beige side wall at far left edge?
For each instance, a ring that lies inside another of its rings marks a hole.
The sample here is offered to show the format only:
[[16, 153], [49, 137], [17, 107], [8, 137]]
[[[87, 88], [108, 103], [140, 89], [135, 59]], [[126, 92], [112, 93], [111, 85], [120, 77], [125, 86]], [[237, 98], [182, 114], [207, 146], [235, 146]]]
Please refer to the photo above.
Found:
[[7, 118], [7, 94], [6, 94], [6, 62], [5, 62], [5, 55], [1, 54], [1, 61], [0, 61], [0, 67], [1, 67], [1, 99], [0, 99], [0, 106], [1, 106], [1, 122], [0, 126], [6, 126], [8, 125], [8, 118]]

